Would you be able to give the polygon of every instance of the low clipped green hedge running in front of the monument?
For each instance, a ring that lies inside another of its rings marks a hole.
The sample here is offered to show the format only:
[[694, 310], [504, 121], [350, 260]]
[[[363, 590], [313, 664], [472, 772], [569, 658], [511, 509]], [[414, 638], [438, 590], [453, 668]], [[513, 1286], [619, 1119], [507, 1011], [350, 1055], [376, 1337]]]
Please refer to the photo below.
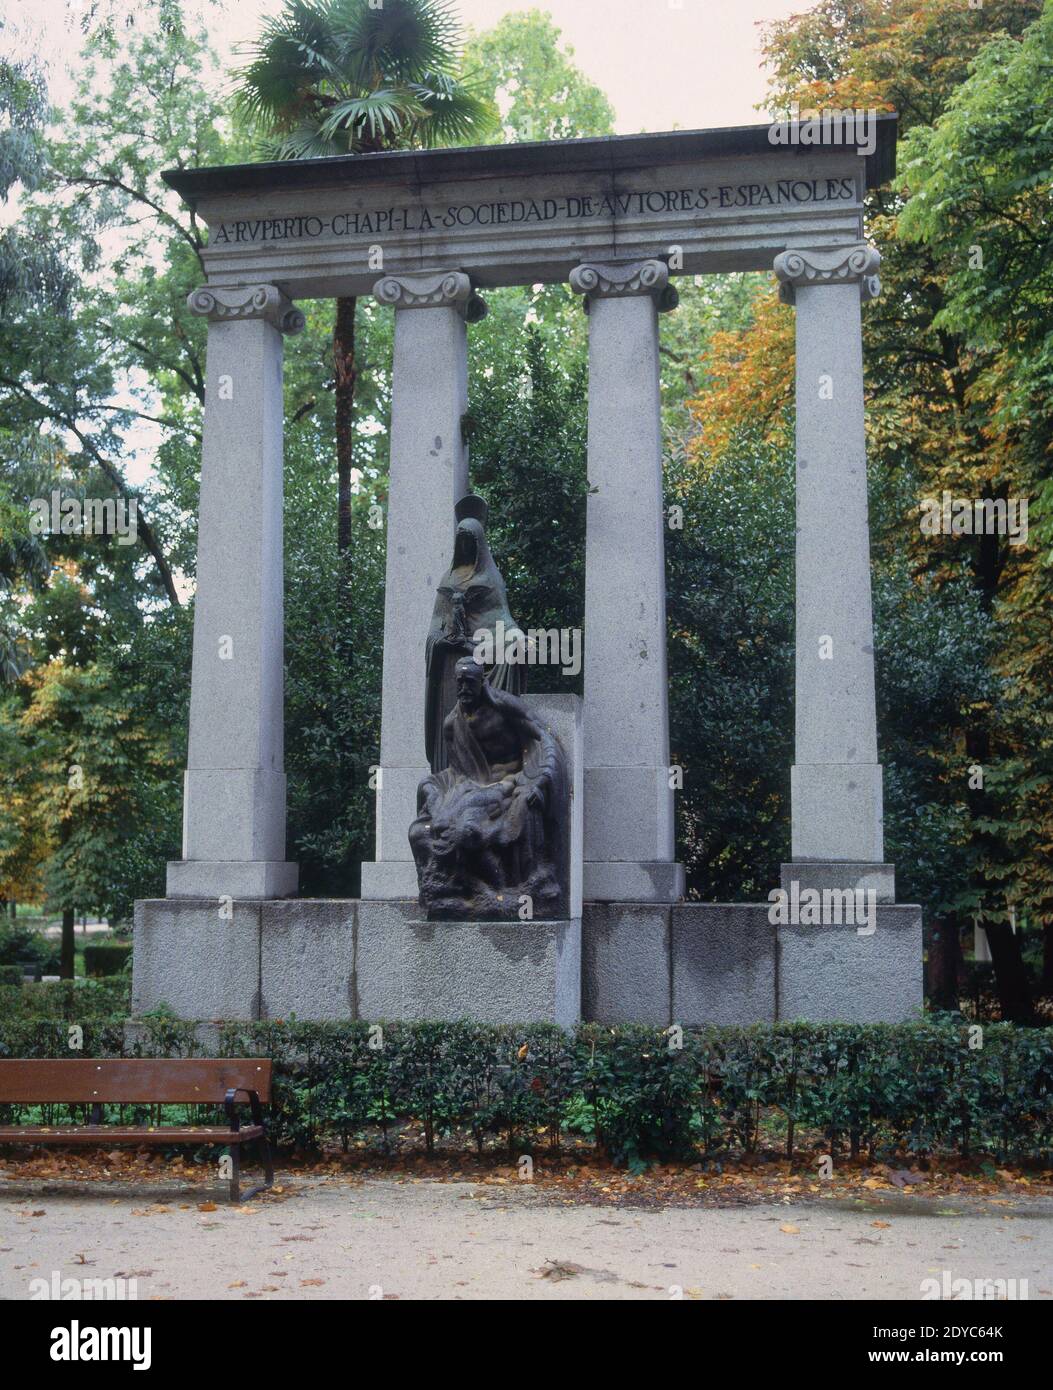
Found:
[[[71, 1054], [65, 1022], [7, 1017], [0, 1056], [201, 1051], [193, 1026], [178, 1020], [144, 1020], [128, 1036], [106, 1017], [83, 1015], [82, 1026], [83, 1051]], [[388, 1137], [413, 1120], [425, 1151], [453, 1130], [481, 1151], [495, 1140], [513, 1152], [556, 1147], [570, 1127], [631, 1166], [761, 1147], [793, 1155], [804, 1130], [827, 1150], [870, 1155], [1006, 1162], [1053, 1151], [1053, 1029], [997, 1023], [977, 1033], [943, 1016], [699, 1029], [678, 1041], [657, 1029], [597, 1024], [564, 1034], [296, 1020], [226, 1024], [218, 1036], [221, 1055], [274, 1058], [272, 1129], [300, 1145], [349, 1143], [367, 1130]]]

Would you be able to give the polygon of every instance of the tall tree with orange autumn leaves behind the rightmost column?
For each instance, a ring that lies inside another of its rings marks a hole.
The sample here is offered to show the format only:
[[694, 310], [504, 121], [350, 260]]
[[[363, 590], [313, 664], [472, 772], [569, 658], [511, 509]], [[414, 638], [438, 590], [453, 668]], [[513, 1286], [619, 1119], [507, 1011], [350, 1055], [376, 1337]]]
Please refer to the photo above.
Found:
[[[795, 103], [803, 111], [895, 108], [903, 132], [927, 131], [953, 106], [971, 64], [984, 63], [986, 46], [992, 40], [1000, 44], [1004, 58], [1022, 47], [1020, 36], [1040, 13], [1040, 0], [990, 0], [982, 8], [957, 0], [821, 0], [809, 13], [765, 29], [772, 108], [788, 111]], [[999, 38], [1000, 32], [1006, 36]], [[1000, 81], [986, 86], [989, 103], [997, 104]], [[1032, 88], [1038, 86], [1036, 75]], [[1027, 83], [1021, 86], [1025, 90]], [[1036, 154], [1042, 139], [1032, 132], [1031, 140], [1024, 140], [1025, 158], [1028, 152]], [[981, 156], [971, 168], [984, 163]], [[1047, 161], [1035, 157], [1027, 172], [1010, 165], [1010, 181], [1014, 172], [1036, 178], [1036, 207], [1043, 197], [1043, 167]], [[915, 584], [946, 589], [949, 599], [954, 598], [950, 591], [971, 589], [986, 627], [997, 631], [1003, 605], [1034, 570], [1034, 553], [1010, 546], [1004, 535], [922, 537], [918, 503], [942, 496], [945, 488], [965, 498], [1020, 495], [1029, 477], [1025, 431], [1007, 428], [1000, 416], [1009, 399], [1007, 356], [993, 346], [985, 349], [963, 318], [947, 313], [954, 277], [963, 268], [960, 247], [947, 239], [920, 242], [904, 235], [917, 172], [903, 161], [900, 170], [893, 188], [868, 196], [870, 231], [884, 257], [884, 292], [864, 316], [875, 564], [879, 570], [906, 550]], [[1006, 192], [1003, 188], [1000, 195]], [[963, 214], [963, 238], [967, 220], [968, 213]], [[989, 284], [993, 293], [1011, 297], [1013, 282]], [[715, 449], [717, 460], [722, 457], [738, 431], [757, 428], [770, 438], [781, 428], [781, 407], [789, 400], [793, 377], [792, 353], [792, 316], [777, 306], [767, 288], [756, 300], [752, 325], [707, 345], [700, 368], [706, 389], [692, 403], [699, 467], [713, 467], [710, 450]], [[1040, 435], [1047, 421], [1034, 418]], [[878, 482], [881, 496], [874, 492]], [[970, 609], [967, 595], [957, 598]], [[1035, 645], [1045, 659], [1047, 632], [1035, 634]], [[1046, 742], [1045, 714], [1035, 705], [1029, 730], [1027, 719], [1013, 727], [1007, 698], [1011, 653], [1013, 644], [1004, 641], [974, 641], [963, 648], [960, 660], [974, 664], [965, 682], [972, 695], [961, 688], [956, 720], [939, 733], [934, 730], [939, 746], [915, 746], [914, 756], [942, 769], [938, 799], [946, 802], [943, 824], [953, 841], [949, 863], [956, 867], [945, 876], [939, 915], [954, 923], [956, 941], [974, 919], [990, 924], [1003, 1016], [1027, 1019], [1031, 1002], [1021, 986], [1020, 935], [1009, 927], [1007, 898], [1027, 898], [1013, 865], [1022, 866], [1034, 852], [1028, 844], [1038, 849], [1043, 842], [1024, 828], [1036, 824], [1035, 801], [1042, 792], [1029, 791], [1028, 778], [1020, 776], [1021, 741], [1040, 748]], [[1022, 714], [1018, 706], [1017, 713]], [[972, 785], [970, 770], [975, 767], [985, 771], [984, 787]], [[896, 805], [895, 798], [907, 791], [909, 783], [893, 773], [886, 783], [890, 826], [897, 817], [906, 826], [911, 815], [921, 813], [917, 803]], [[946, 938], [943, 931], [942, 942]]]

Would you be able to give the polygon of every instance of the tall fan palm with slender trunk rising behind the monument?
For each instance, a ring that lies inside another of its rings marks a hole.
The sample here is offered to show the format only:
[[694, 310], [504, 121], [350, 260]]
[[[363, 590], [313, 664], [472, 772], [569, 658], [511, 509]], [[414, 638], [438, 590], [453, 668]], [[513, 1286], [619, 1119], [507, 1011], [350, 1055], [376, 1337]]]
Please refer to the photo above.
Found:
[[[492, 107], [457, 75], [449, 0], [286, 0], [251, 44], [238, 101], [265, 158], [372, 154], [479, 139]], [[353, 297], [336, 300], [338, 548], [351, 534]]]

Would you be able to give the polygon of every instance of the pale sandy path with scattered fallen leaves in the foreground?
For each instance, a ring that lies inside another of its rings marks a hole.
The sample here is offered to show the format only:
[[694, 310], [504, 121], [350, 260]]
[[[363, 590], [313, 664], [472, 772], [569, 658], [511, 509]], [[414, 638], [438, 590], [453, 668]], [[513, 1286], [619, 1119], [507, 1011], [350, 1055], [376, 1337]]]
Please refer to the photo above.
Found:
[[924, 1279], [1027, 1279], [1053, 1298], [1053, 1201], [560, 1205], [528, 1184], [296, 1180], [214, 1209], [199, 1191], [0, 1193], [0, 1297], [136, 1280], [144, 1298], [906, 1298]]

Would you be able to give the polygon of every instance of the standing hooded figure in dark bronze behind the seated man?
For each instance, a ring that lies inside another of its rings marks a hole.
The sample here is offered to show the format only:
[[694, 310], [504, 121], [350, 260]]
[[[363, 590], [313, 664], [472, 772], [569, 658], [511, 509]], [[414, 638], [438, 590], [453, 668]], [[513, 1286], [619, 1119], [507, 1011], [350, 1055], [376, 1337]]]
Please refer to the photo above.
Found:
[[457, 703], [454, 667], [463, 656], [475, 652], [479, 632], [493, 638], [496, 660], [486, 667], [490, 687], [513, 695], [526, 689], [525, 663], [501, 660], [508, 638], [521, 639], [524, 651], [526, 638], [508, 612], [504, 580], [486, 542], [486, 503], [470, 492], [457, 503], [454, 514], [453, 564], [439, 584], [425, 644], [424, 744], [433, 773], [450, 762], [443, 721]]

